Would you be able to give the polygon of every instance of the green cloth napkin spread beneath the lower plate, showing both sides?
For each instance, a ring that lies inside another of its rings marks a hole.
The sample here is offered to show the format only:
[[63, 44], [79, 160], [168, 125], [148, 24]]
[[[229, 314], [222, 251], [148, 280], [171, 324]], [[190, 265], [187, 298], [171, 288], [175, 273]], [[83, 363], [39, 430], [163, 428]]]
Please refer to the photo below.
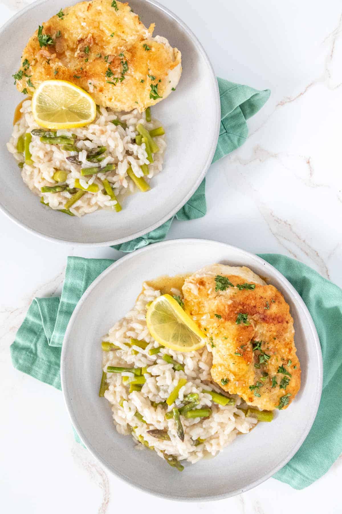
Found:
[[[266, 253], [260, 257], [283, 273], [305, 301], [323, 354], [323, 393], [314, 424], [290, 462], [274, 475], [295, 489], [303, 489], [320, 478], [342, 452], [342, 290], [284, 255]], [[18, 329], [11, 345], [14, 368], [61, 389], [59, 363], [70, 316], [87, 287], [112, 262], [68, 258], [61, 298], [35, 298]]]

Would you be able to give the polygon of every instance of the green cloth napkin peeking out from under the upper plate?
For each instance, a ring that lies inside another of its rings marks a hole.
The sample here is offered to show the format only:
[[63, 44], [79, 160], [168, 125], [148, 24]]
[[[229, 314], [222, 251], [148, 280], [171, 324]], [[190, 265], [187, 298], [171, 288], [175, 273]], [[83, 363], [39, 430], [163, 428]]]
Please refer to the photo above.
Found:
[[[220, 78], [217, 78], [217, 83], [221, 104], [221, 122], [212, 163], [229, 154], [246, 141], [248, 136], [246, 120], [254, 116], [263, 107], [271, 94], [269, 89], [258, 91], [252, 87], [234, 84]], [[174, 217], [182, 221], [201, 218], [207, 212], [205, 189], [206, 179], [202, 181], [197, 191], [195, 191], [182, 209], [179, 209], [175, 216], [163, 225], [142, 237], [113, 246], [113, 248], [122, 252], [132, 252], [150, 243], [163, 241]]]

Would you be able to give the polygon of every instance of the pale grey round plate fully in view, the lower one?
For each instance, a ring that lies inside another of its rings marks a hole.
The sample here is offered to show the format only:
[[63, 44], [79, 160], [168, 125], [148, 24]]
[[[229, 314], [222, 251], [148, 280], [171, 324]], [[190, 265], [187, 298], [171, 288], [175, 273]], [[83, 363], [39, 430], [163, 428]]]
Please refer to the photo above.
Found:
[[[134, 450], [133, 439], [119, 435], [108, 401], [98, 397], [101, 336], [134, 305], [142, 282], [164, 274], [195, 271], [207, 264], [245, 265], [277, 287], [290, 305], [301, 365], [301, 388], [289, 409], [272, 423], [240, 435], [212, 460], [186, 464], [182, 473], [151, 451]], [[173, 500], [215, 500], [260, 484], [298, 450], [314, 421], [322, 383], [318, 336], [296, 290], [256, 255], [224, 243], [171, 240], [126, 255], [87, 289], [70, 319], [63, 343], [61, 374], [74, 427], [89, 451], [109, 471], [130, 484]]]

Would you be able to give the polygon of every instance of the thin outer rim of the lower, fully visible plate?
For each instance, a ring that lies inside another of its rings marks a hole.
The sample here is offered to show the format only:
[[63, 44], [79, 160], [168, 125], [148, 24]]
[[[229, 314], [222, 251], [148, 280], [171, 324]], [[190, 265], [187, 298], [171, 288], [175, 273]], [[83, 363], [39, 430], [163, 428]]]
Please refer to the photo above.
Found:
[[[153, 251], [153, 249], [156, 246], [157, 247], [160, 247], [160, 246], [167, 247], [169, 245], [182, 245], [182, 244], [189, 244], [189, 243], [190, 244], [198, 244], [198, 243], [213, 244], [214, 243], [214, 244], [222, 245], [224, 248], [226, 248], [228, 250], [231, 250], [231, 251], [236, 251], [237, 250], [238, 252], [240, 252], [240, 253], [248, 256], [248, 257], [252, 256], [252, 258], [255, 259], [256, 262], [259, 262], [259, 264], [261, 264], [263, 266], [271, 267], [272, 268], [272, 272], [274, 273], [274, 276], [280, 282], [283, 282], [289, 288], [290, 294], [291, 294], [291, 298], [294, 298], [298, 302], [299, 306], [303, 309], [303, 314], [305, 315], [305, 317], [306, 317], [306, 319], [307, 319], [307, 321], [309, 323], [309, 326], [311, 328], [311, 333], [312, 333], [312, 336], [313, 336], [313, 343], [314, 343], [314, 351], [315, 351], [314, 354], [312, 353], [312, 355], [315, 355], [315, 358], [317, 359], [317, 368], [318, 368], [318, 376], [317, 376], [316, 387], [315, 387], [315, 405], [314, 405], [314, 408], [310, 410], [310, 416], [308, 417], [305, 430], [303, 431], [303, 434], [301, 435], [301, 437], [298, 439], [298, 441], [297, 441], [296, 445], [294, 446], [294, 448], [292, 449], [292, 451], [285, 458], [283, 458], [281, 461], [279, 461], [279, 463], [276, 466], [274, 466], [272, 468], [272, 470], [270, 470], [264, 476], [262, 476], [261, 478], [258, 478], [257, 480], [255, 480], [254, 482], [252, 482], [251, 484], [249, 484], [245, 488], [235, 489], [235, 490], [227, 492], [227, 493], [212, 494], [212, 495], [202, 495], [202, 496], [194, 497], [194, 498], [171, 496], [171, 495], [168, 495], [167, 493], [164, 494], [164, 493], [158, 493], [158, 492], [155, 492], [155, 491], [150, 491], [150, 490], [148, 490], [148, 489], [146, 489], [146, 488], [144, 488], [144, 487], [142, 487], [142, 486], [140, 486], [138, 484], [132, 483], [129, 480], [128, 476], [126, 476], [124, 474], [120, 474], [120, 473], [118, 473], [116, 471], [113, 472], [113, 470], [110, 469], [109, 466], [107, 465], [107, 462], [105, 460], [103, 460], [102, 457], [97, 455], [95, 449], [92, 447], [92, 445], [88, 441], [87, 437], [83, 437], [84, 436], [83, 430], [82, 430], [81, 427], [79, 427], [79, 425], [77, 423], [77, 420], [75, 419], [75, 416], [74, 416], [73, 411], [72, 411], [71, 401], [69, 400], [68, 395], [67, 395], [68, 387], [67, 387], [67, 383], [66, 383], [67, 379], [66, 379], [66, 373], [65, 373], [66, 352], [67, 352], [67, 347], [68, 347], [69, 333], [71, 332], [74, 319], [78, 315], [78, 311], [81, 309], [81, 307], [83, 306], [83, 304], [87, 300], [87, 297], [91, 294], [92, 290], [95, 287], [97, 287], [97, 285], [102, 280], [104, 280], [106, 278], [106, 276], [109, 273], [111, 273], [114, 268], [119, 267], [123, 262], [126, 262], [126, 261], [128, 261], [130, 259], [138, 258], [139, 255], [144, 253], [144, 252]], [[141, 248], [139, 250], [136, 250], [134, 252], [128, 253], [125, 256], [123, 256], [122, 258], [118, 258], [115, 262], [113, 262], [110, 266], [108, 266], [108, 268], [106, 268], [102, 273], [100, 273], [99, 276], [85, 290], [85, 292], [83, 293], [81, 299], [78, 301], [78, 303], [77, 303], [77, 305], [76, 305], [76, 307], [75, 307], [75, 309], [74, 309], [74, 311], [73, 311], [73, 313], [72, 313], [72, 315], [70, 317], [70, 320], [69, 320], [69, 323], [68, 323], [68, 326], [67, 326], [67, 329], [66, 329], [66, 333], [65, 333], [65, 336], [64, 336], [63, 345], [62, 345], [62, 353], [61, 353], [61, 384], [62, 384], [62, 392], [63, 392], [64, 402], [65, 402], [65, 405], [66, 405], [66, 409], [67, 409], [68, 415], [69, 415], [69, 417], [71, 419], [72, 425], [75, 427], [75, 430], [77, 431], [77, 434], [81, 438], [83, 444], [86, 446], [88, 451], [90, 451], [90, 453], [93, 455], [93, 457], [102, 466], [104, 466], [104, 468], [108, 472], [110, 472], [111, 474], [116, 476], [118, 479], [123, 480], [124, 482], [128, 483], [129, 485], [135, 487], [136, 489], [138, 489], [140, 491], [143, 491], [145, 493], [152, 494], [152, 495], [154, 495], [154, 496], [156, 496], [158, 498], [164, 498], [164, 499], [169, 499], [169, 500], [173, 500], [173, 501], [180, 501], [180, 502], [216, 501], [216, 500], [223, 500], [225, 498], [231, 498], [231, 497], [233, 497], [233, 496], [235, 496], [237, 494], [242, 494], [243, 492], [246, 492], [246, 491], [248, 491], [250, 489], [253, 489], [254, 487], [260, 485], [263, 482], [265, 482], [266, 480], [271, 478], [271, 476], [274, 475], [274, 473], [279, 471], [279, 469], [283, 468], [291, 460], [293, 455], [299, 450], [301, 445], [303, 445], [303, 443], [304, 443], [307, 435], [309, 434], [309, 432], [311, 430], [311, 427], [312, 427], [312, 425], [314, 423], [314, 420], [315, 420], [315, 417], [316, 417], [316, 414], [317, 414], [317, 411], [318, 411], [318, 407], [319, 407], [321, 392], [322, 392], [322, 388], [323, 388], [323, 357], [322, 357], [322, 353], [321, 353], [321, 346], [320, 346], [317, 330], [316, 330], [314, 321], [313, 321], [313, 319], [311, 317], [311, 314], [309, 312], [308, 307], [306, 306], [304, 300], [301, 298], [299, 293], [293, 287], [293, 285], [274, 266], [272, 266], [270, 263], [268, 263], [267, 261], [265, 261], [264, 259], [262, 259], [261, 257], [259, 257], [258, 255], [254, 254], [252, 252], [248, 252], [247, 250], [244, 250], [242, 248], [239, 248], [239, 247], [236, 247], [236, 246], [233, 246], [233, 245], [229, 245], [229, 244], [221, 242], [221, 241], [209, 240], [209, 239], [205, 239], [205, 238], [176, 238], [176, 239], [170, 239], [170, 240], [167, 240], [167, 241], [162, 241], [162, 242], [159, 242], [159, 243], [154, 243], [152, 245], [146, 246], [146, 247]]]

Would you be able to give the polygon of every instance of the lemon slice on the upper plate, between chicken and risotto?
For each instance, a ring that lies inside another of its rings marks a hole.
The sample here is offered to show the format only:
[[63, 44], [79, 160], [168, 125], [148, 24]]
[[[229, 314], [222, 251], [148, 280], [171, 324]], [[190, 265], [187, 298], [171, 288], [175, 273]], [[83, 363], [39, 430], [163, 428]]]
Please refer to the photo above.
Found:
[[45, 80], [32, 98], [34, 120], [44, 128], [76, 128], [94, 121], [96, 104], [81, 87], [66, 80]]

